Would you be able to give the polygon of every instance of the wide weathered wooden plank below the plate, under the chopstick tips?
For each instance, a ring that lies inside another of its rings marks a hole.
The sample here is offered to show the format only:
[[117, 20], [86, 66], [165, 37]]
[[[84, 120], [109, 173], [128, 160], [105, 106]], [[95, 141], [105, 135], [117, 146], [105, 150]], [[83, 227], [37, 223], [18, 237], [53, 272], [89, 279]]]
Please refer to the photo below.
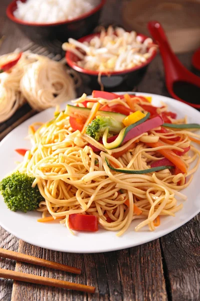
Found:
[[[122, 251], [99, 254], [71, 254], [34, 247], [19, 241], [19, 252], [75, 265], [82, 269], [80, 276], [17, 262], [15, 270], [96, 286], [96, 293], [81, 292], [14, 281], [11, 301], [101, 300], [147, 301], [167, 300], [159, 241]], [[50, 297], [51, 296], [51, 297]]]

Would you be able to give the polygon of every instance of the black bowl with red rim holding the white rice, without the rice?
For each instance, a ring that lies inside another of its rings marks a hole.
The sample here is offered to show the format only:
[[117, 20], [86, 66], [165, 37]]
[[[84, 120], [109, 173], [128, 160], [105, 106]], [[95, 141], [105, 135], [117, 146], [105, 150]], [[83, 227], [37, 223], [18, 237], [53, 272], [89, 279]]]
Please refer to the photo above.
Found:
[[[16, 10], [17, 0], [9, 4], [6, 9], [6, 15], [34, 42], [39, 43], [42, 40], [59, 40], [65, 42], [69, 37], [79, 39], [93, 31], [98, 24], [100, 12], [105, 1], [99, 0], [99, 4], [93, 10], [75, 19], [56, 23], [30, 23], [15, 18], [13, 12]], [[26, 2], [26, 0], [21, 0], [21, 2]]]

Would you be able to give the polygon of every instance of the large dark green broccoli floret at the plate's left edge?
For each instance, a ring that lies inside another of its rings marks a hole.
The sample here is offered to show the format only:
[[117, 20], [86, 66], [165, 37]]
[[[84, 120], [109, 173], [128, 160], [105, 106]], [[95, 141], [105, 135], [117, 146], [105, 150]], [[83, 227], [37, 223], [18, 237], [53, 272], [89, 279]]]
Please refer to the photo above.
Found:
[[15, 172], [0, 182], [0, 193], [10, 210], [32, 211], [44, 200], [37, 185], [31, 187], [33, 181], [33, 177]]

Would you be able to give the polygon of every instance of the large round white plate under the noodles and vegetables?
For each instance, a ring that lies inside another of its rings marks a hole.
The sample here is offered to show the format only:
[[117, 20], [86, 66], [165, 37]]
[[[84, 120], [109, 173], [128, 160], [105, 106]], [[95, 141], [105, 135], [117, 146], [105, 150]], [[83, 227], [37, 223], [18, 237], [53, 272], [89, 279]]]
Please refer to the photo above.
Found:
[[[160, 101], [168, 104], [169, 109], [178, 114], [178, 117], [188, 116], [188, 122], [199, 122], [200, 113], [192, 107], [174, 99], [147, 93], [137, 95], [152, 96], [154, 105], [159, 106]], [[64, 108], [64, 105], [62, 105]], [[29, 148], [29, 141], [24, 140], [27, 127], [35, 121], [45, 122], [52, 118], [54, 109], [48, 109], [31, 117], [16, 127], [0, 142], [0, 180], [15, 168], [16, 161], [21, 157], [14, 152], [15, 148]], [[143, 244], [161, 237], [185, 224], [200, 211], [199, 186], [200, 169], [195, 173], [192, 185], [182, 191], [188, 199], [183, 201], [183, 209], [175, 217], [161, 217], [161, 224], [155, 231], [150, 232], [143, 228], [139, 232], [134, 227], [139, 221], [132, 222], [129, 229], [122, 237], [117, 237], [115, 232], [99, 229], [95, 233], [76, 232], [71, 235], [59, 223], [38, 223], [41, 216], [38, 212], [20, 213], [7, 209], [0, 196], [0, 225], [16, 237], [33, 245], [62, 252], [95, 253], [120, 250]]]

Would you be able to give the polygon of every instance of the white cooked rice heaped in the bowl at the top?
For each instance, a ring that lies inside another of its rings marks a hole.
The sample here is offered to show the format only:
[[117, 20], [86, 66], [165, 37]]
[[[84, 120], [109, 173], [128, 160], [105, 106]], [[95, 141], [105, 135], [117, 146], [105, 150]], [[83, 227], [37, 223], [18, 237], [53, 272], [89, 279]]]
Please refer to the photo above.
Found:
[[99, 0], [27, 0], [17, 1], [14, 17], [32, 23], [55, 23], [77, 18], [91, 11]]

